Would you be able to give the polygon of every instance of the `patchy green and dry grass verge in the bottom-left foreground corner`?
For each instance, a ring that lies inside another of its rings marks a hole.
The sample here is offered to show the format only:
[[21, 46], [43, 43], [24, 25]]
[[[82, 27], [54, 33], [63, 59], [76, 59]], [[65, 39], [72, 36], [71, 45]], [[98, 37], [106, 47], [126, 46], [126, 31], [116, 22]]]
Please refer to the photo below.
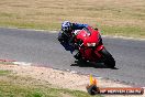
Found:
[[[54, 87], [31, 77], [14, 76], [9, 71], [0, 71], [0, 97], [91, 97], [80, 90]], [[102, 97], [97, 95], [94, 97]]]

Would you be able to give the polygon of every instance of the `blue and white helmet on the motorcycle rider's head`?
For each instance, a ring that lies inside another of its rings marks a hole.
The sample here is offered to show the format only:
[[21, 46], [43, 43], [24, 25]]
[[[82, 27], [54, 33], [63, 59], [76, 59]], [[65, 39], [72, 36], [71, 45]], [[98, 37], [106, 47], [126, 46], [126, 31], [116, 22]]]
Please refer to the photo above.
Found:
[[65, 33], [69, 33], [71, 31], [71, 25], [72, 23], [69, 21], [64, 21], [62, 23], [62, 31], [64, 31]]

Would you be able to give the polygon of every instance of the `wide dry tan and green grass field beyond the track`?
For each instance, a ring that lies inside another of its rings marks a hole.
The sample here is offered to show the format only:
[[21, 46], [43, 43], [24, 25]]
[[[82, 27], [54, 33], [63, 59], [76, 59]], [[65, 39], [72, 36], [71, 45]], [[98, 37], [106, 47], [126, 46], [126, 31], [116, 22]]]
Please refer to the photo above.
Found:
[[145, 37], [145, 0], [0, 0], [0, 26], [59, 30], [64, 20]]

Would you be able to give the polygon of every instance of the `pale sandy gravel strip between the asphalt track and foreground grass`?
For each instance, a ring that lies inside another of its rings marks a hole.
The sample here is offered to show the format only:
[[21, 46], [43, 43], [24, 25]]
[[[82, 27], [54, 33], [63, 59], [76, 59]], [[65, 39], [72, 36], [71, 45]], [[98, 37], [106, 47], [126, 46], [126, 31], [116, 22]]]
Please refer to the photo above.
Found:
[[[19, 66], [19, 65], [0, 65], [0, 69], [12, 71], [14, 75], [23, 77], [32, 77], [40, 82], [45, 82], [56, 87], [77, 89], [87, 91], [86, 86], [89, 84], [89, 75], [80, 75], [74, 72], [63, 72], [46, 67], [36, 66]], [[103, 78], [97, 78], [99, 87], [131, 87], [129, 85], [123, 85], [119, 82], [113, 82]], [[105, 97], [114, 97], [114, 95], [105, 95]], [[124, 97], [115, 95], [115, 97]], [[145, 97], [142, 96], [125, 96], [125, 97]]]

